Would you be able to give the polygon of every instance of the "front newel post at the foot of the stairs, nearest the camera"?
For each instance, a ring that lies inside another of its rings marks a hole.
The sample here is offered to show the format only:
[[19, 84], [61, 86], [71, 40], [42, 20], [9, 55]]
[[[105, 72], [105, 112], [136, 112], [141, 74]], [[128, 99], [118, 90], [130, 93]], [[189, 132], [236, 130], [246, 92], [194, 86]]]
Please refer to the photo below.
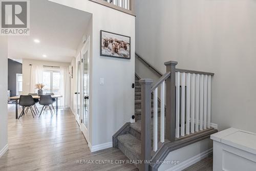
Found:
[[151, 160], [151, 84], [152, 79], [141, 79], [141, 159], [140, 171], [147, 171]]

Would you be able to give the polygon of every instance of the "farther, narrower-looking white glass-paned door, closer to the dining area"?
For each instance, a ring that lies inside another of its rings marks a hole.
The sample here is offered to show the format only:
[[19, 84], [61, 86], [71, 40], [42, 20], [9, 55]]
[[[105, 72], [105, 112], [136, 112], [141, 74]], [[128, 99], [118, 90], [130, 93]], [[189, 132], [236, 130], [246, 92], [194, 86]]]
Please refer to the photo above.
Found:
[[81, 91], [81, 55], [78, 55], [76, 58], [76, 121], [80, 125], [81, 124], [81, 110], [80, 110], [80, 91]]

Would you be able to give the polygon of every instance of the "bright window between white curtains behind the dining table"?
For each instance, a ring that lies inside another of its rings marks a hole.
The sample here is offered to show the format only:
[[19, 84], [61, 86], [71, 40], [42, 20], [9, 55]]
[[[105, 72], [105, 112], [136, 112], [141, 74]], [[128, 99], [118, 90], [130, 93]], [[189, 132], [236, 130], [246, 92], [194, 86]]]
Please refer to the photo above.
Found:
[[60, 88], [60, 72], [56, 70], [44, 70], [42, 81], [46, 85], [44, 93], [54, 93], [59, 95]]

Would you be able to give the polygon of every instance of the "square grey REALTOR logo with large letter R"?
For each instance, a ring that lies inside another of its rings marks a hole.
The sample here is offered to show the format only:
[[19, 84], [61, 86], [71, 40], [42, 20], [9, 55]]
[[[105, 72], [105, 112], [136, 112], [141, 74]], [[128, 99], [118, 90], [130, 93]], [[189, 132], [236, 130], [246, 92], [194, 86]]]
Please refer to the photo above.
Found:
[[29, 35], [29, 0], [1, 0], [1, 35]]

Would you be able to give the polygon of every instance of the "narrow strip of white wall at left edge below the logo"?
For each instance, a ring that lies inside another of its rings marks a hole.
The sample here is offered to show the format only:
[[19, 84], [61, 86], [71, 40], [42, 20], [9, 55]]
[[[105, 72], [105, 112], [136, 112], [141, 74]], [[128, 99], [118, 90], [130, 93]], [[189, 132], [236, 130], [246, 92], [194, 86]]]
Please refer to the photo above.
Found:
[[0, 36], [0, 157], [6, 151], [7, 137], [7, 83], [8, 83], [7, 37]]

